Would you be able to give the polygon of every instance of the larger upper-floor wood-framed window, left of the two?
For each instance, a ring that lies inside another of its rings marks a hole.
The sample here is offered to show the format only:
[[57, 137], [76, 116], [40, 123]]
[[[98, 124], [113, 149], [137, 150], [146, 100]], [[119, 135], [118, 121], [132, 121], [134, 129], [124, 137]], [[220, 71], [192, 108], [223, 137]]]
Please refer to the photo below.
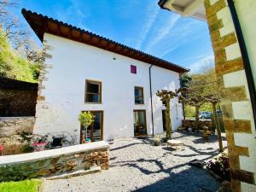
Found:
[[102, 83], [86, 80], [85, 102], [102, 102]]

